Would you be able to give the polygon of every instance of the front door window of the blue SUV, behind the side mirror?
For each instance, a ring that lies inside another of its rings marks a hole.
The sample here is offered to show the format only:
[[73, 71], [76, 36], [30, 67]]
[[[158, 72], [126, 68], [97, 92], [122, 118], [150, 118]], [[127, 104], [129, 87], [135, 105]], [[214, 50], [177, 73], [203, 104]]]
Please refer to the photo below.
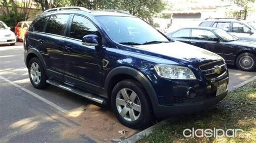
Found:
[[88, 34], [100, 36], [98, 29], [89, 19], [82, 16], [74, 16], [71, 24], [70, 37], [82, 40]]

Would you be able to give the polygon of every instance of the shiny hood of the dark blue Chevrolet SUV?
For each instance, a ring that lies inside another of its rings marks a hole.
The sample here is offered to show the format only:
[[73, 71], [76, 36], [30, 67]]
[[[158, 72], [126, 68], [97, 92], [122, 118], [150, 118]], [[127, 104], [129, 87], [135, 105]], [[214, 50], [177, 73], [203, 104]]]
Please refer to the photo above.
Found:
[[134, 46], [148, 52], [157, 53], [171, 58], [181, 59], [192, 63], [205, 61], [215, 61], [223, 59], [219, 55], [207, 51], [203, 48], [185, 44], [184, 42], [174, 41], [160, 44]]

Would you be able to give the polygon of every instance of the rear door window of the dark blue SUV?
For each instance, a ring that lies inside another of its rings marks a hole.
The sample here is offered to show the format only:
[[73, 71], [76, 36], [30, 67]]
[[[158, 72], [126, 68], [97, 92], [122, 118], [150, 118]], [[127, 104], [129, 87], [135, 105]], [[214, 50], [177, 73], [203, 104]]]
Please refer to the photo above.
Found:
[[45, 32], [57, 35], [64, 35], [69, 15], [53, 15], [50, 17]]

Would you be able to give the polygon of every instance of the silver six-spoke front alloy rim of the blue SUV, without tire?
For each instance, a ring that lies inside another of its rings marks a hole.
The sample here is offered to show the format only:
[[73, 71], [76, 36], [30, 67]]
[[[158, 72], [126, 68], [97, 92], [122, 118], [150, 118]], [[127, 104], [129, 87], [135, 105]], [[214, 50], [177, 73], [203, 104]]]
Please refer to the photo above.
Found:
[[138, 95], [129, 88], [119, 90], [116, 105], [119, 115], [127, 121], [137, 120], [142, 110]]

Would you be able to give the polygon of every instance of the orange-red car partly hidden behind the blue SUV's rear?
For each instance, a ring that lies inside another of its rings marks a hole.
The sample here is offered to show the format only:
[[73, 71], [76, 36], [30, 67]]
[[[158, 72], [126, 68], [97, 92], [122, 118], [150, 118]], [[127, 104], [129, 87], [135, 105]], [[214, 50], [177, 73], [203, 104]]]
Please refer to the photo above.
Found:
[[31, 22], [19, 22], [15, 26], [15, 35], [16, 35], [16, 40], [24, 40], [24, 35], [26, 31], [29, 29]]

